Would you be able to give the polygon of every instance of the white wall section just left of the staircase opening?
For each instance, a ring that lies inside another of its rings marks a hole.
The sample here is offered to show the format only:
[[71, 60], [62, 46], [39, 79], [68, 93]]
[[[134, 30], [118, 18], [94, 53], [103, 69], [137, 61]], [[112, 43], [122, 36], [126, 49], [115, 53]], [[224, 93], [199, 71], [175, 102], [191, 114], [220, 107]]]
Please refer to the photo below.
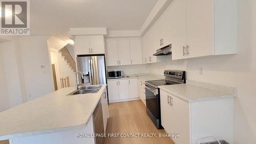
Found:
[[[53, 76], [48, 51], [48, 36], [19, 37], [25, 86], [28, 100], [40, 97], [54, 90]], [[41, 68], [41, 66], [45, 66]]]

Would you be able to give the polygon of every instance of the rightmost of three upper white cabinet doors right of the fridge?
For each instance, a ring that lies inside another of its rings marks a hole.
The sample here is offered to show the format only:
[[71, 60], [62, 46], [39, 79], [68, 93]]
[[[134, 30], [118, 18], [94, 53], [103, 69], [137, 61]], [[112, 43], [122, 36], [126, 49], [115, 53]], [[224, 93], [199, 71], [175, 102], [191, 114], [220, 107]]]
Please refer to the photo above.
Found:
[[130, 40], [131, 64], [142, 64], [141, 40]]

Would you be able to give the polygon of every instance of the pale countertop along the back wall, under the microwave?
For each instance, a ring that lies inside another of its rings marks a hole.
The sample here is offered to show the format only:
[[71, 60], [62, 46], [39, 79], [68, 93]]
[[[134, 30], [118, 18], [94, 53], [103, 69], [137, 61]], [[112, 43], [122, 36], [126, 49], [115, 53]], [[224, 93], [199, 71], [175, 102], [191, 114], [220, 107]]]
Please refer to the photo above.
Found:
[[[154, 75], [154, 74], [133, 74], [133, 75], [127, 75], [129, 77], [123, 77], [120, 79], [140, 79], [142, 81], [154, 81], [154, 80], [164, 80], [164, 76], [161, 75]], [[108, 81], [113, 80], [120, 80], [120, 79], [108, 79]]]

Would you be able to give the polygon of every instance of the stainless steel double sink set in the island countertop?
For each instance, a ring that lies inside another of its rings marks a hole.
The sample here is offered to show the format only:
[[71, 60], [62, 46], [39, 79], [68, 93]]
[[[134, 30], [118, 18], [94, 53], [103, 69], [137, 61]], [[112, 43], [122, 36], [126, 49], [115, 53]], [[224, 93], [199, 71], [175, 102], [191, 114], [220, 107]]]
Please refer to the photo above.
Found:
[[75, 90], [68, 95], [86, 94], [86, 93], [97, 93], [102, 85], [88, 85], [81, 86], [78, 90]]

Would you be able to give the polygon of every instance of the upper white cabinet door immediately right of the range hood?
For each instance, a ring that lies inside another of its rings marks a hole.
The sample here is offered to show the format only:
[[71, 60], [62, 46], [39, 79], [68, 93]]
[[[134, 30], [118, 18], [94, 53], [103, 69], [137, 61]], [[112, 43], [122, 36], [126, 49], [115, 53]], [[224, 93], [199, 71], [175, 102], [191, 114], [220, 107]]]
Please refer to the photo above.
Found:
[[170, 9], [171, 27], [170, 37], [172, 37], [172, 59], [184, 59], [186, 56], [186, 0], [175, 0]]

